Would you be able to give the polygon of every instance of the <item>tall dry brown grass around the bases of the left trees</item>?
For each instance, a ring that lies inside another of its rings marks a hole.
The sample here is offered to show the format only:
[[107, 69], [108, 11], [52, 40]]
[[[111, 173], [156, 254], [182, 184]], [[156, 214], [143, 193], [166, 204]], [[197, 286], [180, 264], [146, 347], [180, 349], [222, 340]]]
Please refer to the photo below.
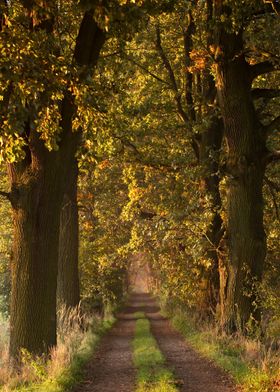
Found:
[[67, 309], [61, 306], [58, 311], [57, 346], [51, 349], [48, 357], [36, 357], [23, 350], [21, 367], [12, 371], [8, 356], [8, 323], [0, 324], [0, 386], [2, 391], [11, 391], [19, 385], [38, 383], [58, 377], [67, 368], [74, 355], [83, 348], [83, 344], [92, 329], [98, 329], [101, 319], [87, 316], [81, 307]]

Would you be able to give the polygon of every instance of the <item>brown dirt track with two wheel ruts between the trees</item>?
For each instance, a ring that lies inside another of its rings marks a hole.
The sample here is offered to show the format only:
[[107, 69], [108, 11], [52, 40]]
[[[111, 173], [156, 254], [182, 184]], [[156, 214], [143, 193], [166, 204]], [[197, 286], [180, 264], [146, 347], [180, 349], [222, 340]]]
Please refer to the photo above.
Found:
[[73, 392], [134, 392], [136, 369], [133, 365], [132, 340], [136, 312], [144, 312], [151, 324], [166, 365], [174, 372], [183, 392], [237, 392], [231, 378], [211, 361], [203, 358], [160, 314], [154, 298], [134, 294], [129, 305], [118, 314], [118, 321], [103, 337], [99, 349], [85, 369], [84, 381]]

